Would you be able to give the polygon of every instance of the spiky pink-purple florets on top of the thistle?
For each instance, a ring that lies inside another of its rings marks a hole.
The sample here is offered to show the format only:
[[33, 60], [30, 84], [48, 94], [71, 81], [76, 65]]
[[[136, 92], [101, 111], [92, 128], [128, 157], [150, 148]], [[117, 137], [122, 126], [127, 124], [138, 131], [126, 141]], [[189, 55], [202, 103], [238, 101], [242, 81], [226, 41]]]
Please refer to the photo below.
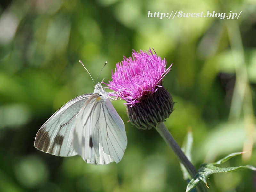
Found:
[[148, 53], [133, 50], [132, 57], [124, 57], [122, 64], [116, 64], [114, 74], [112, 71], [113, 80], [107, 85], [115, 93], [110, 95], [124, 99], [127, 102], [125, 104], [132, 107], [140, 102], [143, 95], [153, 95], [157, 87], [162, 87], [161, 81], [170, 71], [171, 66], [166, 69], [165, 58], [162, 60], [156, 52], [153, 54], [151, 49]]

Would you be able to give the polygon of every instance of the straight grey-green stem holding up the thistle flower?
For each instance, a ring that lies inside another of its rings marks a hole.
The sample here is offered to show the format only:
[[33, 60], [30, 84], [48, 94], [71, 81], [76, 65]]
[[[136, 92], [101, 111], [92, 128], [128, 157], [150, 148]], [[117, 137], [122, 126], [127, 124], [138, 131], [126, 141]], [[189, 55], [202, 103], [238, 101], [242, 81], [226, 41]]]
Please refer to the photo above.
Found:
[[[184, 167], [187, 169], [188, 173], [192, 178], [196, 175], [197, 171], [196, 168], [193, 166], [193, 164], [188, 160], [188, 158], [185, 156], [183, 151], [181, 150], [178, 143], [174, 140], [171, 133], [168, 131], [166, 126], [163, 122], [156, 125], [157, 132], [162, 136], [162, 138], [165, 140], [165, 142], [169, 145], [169, 147], [172, 149], [172, 151], [175, 153], [175, 155], [178, 157], [179, 161], [184, 165]], [[198, 192], [207, 192], [206, 186], [200, 182], [197, 185], [197, 191]]]

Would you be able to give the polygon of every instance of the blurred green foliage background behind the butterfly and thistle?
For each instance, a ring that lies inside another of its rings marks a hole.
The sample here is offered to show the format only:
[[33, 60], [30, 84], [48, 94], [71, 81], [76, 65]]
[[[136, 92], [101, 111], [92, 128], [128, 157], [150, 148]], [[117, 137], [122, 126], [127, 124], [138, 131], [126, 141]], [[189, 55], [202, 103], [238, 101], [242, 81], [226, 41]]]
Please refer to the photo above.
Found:
[[[230, 11], [239, 19], [148, 18], [148, 11]], [[0, 1], [0, 191], [184, 192], [179, 162], [156, 130], [125, 122], [120, 163], [86, 164], [34, 148], [36, 132], [62, 105], [93, 92], [94, 79], [136, 51], [154, 48], [171, 71], [164, 87], [175, 110], [165, 124], [181, 145], [192, 129], [196, 168], [233, 152], [223, 166], [256, 166], [255, 0]], [[105, 79], [105, 82], [108, 82]], [[252, 170], [210, 176], [213, 192], [255, 192]]]

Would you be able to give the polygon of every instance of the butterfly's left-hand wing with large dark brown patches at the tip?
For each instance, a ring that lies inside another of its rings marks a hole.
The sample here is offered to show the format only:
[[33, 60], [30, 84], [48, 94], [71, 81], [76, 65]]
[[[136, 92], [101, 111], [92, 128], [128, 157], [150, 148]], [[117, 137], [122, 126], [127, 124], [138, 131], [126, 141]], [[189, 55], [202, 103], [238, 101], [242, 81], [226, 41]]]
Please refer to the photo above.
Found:
[[73, 130], [77, 115], [91, 95], [80, 95], [54, 113], [37, 132], [35, 147], [56, 156], [77, 155], [72, 146]]

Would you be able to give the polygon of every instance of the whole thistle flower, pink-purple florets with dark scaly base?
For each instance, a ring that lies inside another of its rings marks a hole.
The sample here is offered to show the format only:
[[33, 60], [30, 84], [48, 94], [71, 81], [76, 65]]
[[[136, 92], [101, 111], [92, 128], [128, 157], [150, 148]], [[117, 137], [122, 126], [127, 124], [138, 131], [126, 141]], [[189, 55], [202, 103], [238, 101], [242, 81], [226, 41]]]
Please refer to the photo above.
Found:
[[112, 81], [107, 85], [114, 90], [112, 96], [127, 102], [128, 116], [136, 127], [151, 129], [172, 113], [172, 97], [162, 86], [171, 66], [166, 69], [165, 59], [151, 49], [148, 53], [133, 50], [132, 57], [124, 57], [122, 63], [116, 64]]

